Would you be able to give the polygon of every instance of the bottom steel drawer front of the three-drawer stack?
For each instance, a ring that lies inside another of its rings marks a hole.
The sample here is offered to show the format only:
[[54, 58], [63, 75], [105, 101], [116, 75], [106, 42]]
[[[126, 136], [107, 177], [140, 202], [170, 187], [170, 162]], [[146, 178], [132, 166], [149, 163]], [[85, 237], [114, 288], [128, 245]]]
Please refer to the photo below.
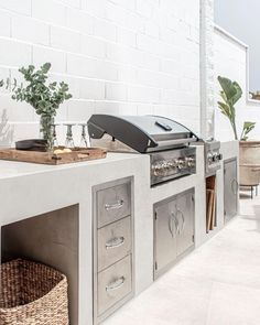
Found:
[[98, 273], [98, 316], [132, 290], [131, 256]]

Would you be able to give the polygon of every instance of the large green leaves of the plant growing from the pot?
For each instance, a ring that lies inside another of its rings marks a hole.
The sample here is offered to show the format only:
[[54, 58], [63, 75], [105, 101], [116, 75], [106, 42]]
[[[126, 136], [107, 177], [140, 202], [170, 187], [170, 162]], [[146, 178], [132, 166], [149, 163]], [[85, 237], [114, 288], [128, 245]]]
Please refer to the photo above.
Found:
[[[231, 82], [226, 77], [218, 76], [218, 82], [221, 87], [220, 97], [223, 98], [223, 101], [218, 101], [218, 107], [221, 113], [229, 119], [235, 139], [238, 140], [235, 105], [242, 97], [242, 89], [238, 83]], [[256, 122], [243, 122], [240, 141], [248, 139], [248, 133], [253, 130], [254, 126]]]

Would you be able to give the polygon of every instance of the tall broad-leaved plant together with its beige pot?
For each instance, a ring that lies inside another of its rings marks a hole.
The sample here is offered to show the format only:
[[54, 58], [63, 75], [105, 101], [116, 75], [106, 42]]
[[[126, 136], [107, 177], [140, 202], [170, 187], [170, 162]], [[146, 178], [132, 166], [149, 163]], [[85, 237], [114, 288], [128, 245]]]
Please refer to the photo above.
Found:
[[229, 119], [235, 140], [239, 140], [240, 184], [256, 185], [260, 181], [260, 141], [248, 141], [248, 134], [256, 122], [245, 121], [240, 139], [238, 139], [235, 105], [242, 96], [242, 89], [236, 82], [225, 77], [218, 77], [220, 84], [220, 97], [218, 101], [220, 111]]

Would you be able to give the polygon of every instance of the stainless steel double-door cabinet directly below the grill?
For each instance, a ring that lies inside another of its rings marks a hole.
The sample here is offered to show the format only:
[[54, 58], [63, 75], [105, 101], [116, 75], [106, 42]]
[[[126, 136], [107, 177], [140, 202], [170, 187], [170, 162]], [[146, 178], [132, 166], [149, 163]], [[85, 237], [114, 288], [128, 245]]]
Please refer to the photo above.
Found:
[[194, 248], [194, 188], [154, 205], [154, 279]]

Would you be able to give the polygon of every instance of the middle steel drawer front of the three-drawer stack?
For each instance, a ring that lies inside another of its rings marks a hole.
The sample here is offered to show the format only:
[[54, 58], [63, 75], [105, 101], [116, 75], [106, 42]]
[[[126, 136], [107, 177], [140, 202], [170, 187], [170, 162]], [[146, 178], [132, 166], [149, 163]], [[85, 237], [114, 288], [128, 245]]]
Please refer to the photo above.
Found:
[[121, 260], [131, 252], [131, 217], [98, 230], [98, 271]]

